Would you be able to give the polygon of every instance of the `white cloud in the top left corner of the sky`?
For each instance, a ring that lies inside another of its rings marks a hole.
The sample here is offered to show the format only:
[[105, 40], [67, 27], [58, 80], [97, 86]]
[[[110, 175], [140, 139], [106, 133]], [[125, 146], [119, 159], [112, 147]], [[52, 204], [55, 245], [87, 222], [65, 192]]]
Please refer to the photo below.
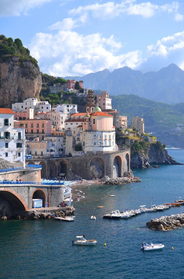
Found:
[[0, 0], [0, 16], [19, 16], [51, 0]]

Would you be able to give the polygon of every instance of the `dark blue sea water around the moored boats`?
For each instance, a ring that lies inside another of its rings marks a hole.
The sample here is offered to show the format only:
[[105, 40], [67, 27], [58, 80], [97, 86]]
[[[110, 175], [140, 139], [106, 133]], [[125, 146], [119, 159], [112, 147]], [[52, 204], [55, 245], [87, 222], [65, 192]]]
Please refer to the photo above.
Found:
[[[184, 163], [184, 149], [169, 149], [168, 153]], [[87, 183], [73, 189], [84, 196], [73, 202], [73, 222], [0, 222], [0, 278], [184, 278], [184, 227], [170, 231], [146, 227], [151, 219], [182, 213], [184, 206], [128, 219], [102, 218], [111, 210], [138, 209], [141, 205], [150, 207], [183, 199], [184, 165], [135, 169], [133, 173], [141, 182], [112, 186]], [[92, 215], [96, 220], [90, 219]], [[73, 245], [72, 240], [83, 234], [86, 239], [96, 239], [97, 245]], [[142, 251], [143, 241], [162, 243], [165, 247]]]

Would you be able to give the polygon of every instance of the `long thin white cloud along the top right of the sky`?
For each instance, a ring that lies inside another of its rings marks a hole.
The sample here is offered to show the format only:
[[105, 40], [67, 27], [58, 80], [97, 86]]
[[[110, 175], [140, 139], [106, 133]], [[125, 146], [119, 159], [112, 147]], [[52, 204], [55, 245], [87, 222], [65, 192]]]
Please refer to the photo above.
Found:
[[[83, 12], [92, 12], [93, 17], [100, 19], [114, 18], [121, 14], [128, 15], [141, 15], [143, 17], [152, 17], [157, 13], [168, 12], [177, 13], [179, 9], [178, 2], [172, 2], [172, 4], [155, 5], [150, 2], [142, 2], [135, 4], [136, 0], [122, 1], [121, 3], [107, 2], [104, 4], [92, 4], [87, 6], [79, 6], [73, 8], [70, 13], [73, 15], [79, 15]], [[182, 15], [178, 14], [175, 20], [181, 21]]]

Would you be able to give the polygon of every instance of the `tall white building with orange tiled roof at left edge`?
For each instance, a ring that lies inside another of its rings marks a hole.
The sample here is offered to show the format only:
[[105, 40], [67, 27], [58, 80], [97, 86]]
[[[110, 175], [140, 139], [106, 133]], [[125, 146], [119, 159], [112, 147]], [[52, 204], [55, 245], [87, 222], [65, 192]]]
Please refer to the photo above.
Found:
[[2, 159], [22, 162], [25, 167], [25, 130], [14, 127], [14, 112], [10, 108], [0, 108], [0, 153]]

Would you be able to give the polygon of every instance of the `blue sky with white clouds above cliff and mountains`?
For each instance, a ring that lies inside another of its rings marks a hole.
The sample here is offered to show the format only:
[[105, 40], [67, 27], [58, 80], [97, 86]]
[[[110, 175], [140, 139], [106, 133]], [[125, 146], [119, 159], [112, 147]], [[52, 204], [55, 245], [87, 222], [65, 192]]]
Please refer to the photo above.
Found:
[[184, 70], [183, 0], [0, 0], [0, 34], [21, 39], [55, 77]]

